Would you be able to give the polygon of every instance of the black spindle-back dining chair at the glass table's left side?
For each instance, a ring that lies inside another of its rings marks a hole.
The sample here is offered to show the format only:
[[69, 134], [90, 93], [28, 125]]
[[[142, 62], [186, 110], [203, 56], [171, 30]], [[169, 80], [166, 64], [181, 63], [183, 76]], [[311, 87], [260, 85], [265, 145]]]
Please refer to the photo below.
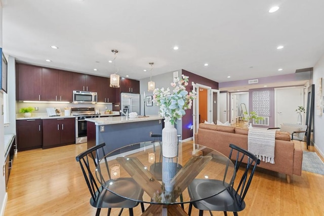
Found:
[[[130, 216], [133, 216], [133, 207], [137, 206], [139, 203], [141, 203], [142, 212], [144, 212], [143, 202], [136, 202], [117, 196], [105, 189], [102, 185], [97, 184], [94, 177], [94, 171], [99, 162], [99, 151], [101, 150], [102, 154], [105, 155], [103, 148], [105, 145], [105, 143], [101, 143], [100, 145], [96, 145], [75, 157], [76, 161], [80, 163], [83, 175], [91, 194], [90, 204], [93, 207], [97, 208], [96, 215], [100, 214], [101, 208], [108, 208], [108, 216], [110, 215], [111, 208], [121, 208], [118, 215], [123, 212], [124, 208], [129, 208]], [[108, 174], [110, 174], [106, 158], [104, 162], [106, 164]], [[117, 179], [116, 181], [118, 180], [121, 180], [121, 178]], [[138, 197], [136, 199], [140, 200], [144, 193], [140, 186], [132, 178], [122, 178], [122, 180], [127, 180], [127, 183], [130, 186], [127, 188], [131, 189], [132, 193], [137, 194]]]

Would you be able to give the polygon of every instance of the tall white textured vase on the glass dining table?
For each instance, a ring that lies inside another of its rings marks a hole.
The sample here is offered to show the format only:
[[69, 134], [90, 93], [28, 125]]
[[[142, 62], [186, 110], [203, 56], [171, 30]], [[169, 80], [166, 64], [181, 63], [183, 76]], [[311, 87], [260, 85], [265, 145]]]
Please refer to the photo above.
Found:
[[162, 129], [162, 154], [164, 157], [176, 157], [178, 150], [177, 129], [170, 121]]

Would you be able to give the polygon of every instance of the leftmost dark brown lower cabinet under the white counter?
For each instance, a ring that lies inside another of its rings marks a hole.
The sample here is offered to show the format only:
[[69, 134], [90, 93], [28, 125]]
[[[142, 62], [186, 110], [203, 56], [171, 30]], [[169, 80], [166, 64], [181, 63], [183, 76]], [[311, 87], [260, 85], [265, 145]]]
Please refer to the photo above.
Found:
[[27, 119], [17, 120], [17, 150], [24, 151], [42, 148], [42, 120]]

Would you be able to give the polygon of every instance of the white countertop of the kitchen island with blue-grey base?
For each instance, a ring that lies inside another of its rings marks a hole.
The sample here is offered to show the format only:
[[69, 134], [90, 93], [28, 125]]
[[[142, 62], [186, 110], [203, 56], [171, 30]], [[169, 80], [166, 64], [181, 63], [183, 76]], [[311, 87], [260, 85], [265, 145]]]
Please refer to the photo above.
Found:
[[115, 117], [100, 117], [100, 118], [86, 118], [85, 120], [94, 122], [95, 125], [108, 125], [108, 124], [121, 124], [131, 123], [139, 121], [152, 121], [163, 119], [159, 115], [150, 116], [138, 116], [137, 118], [130, 118], [126, 116], [115, 116]]

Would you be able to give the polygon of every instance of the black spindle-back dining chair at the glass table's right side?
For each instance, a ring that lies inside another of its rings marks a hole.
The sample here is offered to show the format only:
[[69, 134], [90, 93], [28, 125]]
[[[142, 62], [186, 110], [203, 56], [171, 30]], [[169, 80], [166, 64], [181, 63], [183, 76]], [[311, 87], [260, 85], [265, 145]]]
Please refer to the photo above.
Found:
[[[204, 215], [204, 210], [208, 210], [211, 215], [213, 215], [212, 211], [223, 211], [224, 215], [227, 215], [227, 211], [232, 211], [234, 215], [238, 215], [237, 212], [245, 208], [246, 204], [244, 198], [250, 188], [254, 171], [257, 165], [260, 164], [260, 160], [253, 153], [238, 146], [229, 144], [229, 147], [231, 148], [229, 158], [234, 158], [235, 154], [233, 154], [232, 157], [232, 153], [236, 152], [234, 161], [235, 172], [237, 172], [242, 163], [247, 163], [244, 166], [245, 171], [239, 180], [236, 190], [234, 189], [234, 181], [232, 181], [231, 185], [223, 192], [210, 198], [190, 203], [188, 210], [189, 215], [191, 215], [192, 205], [199, 209], [199, 216]], [[246, 158], [246, 160], [242, 162], [244, 158]], [[191, 200], [198, 200], [200, 197], [206, 197], [206, 193], [210, 193], [214, 187], [224, 187], [225, 184], [226, 183], [220, 180], [195, 179], [190, 183], [188, 193]], [[199, 185], [200, 190], [197, 190], [197, 186]], [[206, 190], [201, 189], [201, 185], [206, 185], [208, 188], [206, 188]]]

